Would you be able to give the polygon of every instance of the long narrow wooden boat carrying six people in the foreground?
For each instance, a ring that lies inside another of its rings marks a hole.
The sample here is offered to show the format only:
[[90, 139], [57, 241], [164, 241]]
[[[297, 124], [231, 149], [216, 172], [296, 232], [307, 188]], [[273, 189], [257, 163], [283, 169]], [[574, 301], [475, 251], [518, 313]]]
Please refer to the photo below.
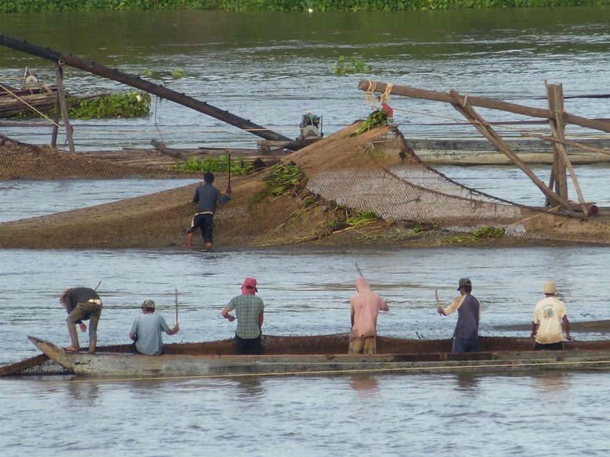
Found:
[[378, 337], [378, 354], [348, 355], [348, 336], [264, 336], [265, 354], [235, 356], [232, 340], [167, 344], [162, 356], [113, 351], [70, 352], [29, 337], [67, 372], [84, 376], [243, 376], [362, 372], [458, 373], [610, 369], [610, 341], [570, 342], [565, 351], [531, 351], [527, 338], [481, 338], [479, 353], [451, 354], [451, 340]]

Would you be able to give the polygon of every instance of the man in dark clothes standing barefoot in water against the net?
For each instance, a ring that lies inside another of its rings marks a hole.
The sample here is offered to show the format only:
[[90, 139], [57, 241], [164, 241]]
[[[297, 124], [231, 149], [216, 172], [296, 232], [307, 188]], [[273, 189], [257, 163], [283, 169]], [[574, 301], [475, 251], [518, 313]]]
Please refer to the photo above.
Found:
[[203, 175], [204, 184], [200, 185], [195, 190], [193, 203], [199, 203], [197, 213], [191, 221], [191, 228], [186, 231], [186, 247], [193, 244], [193, 235], [200, 228], [201, 238], [205, 244], [205, 249], [210, 249], [212, 245], [212, 235], [214, 231], [214, 213], [216, 213], [216, 203], [224, 205], [231, 199], [231, 188], [227, 188], [227, 194], [223, 197], [220, 190], [215, 188], [214, 174], [207, 172]]

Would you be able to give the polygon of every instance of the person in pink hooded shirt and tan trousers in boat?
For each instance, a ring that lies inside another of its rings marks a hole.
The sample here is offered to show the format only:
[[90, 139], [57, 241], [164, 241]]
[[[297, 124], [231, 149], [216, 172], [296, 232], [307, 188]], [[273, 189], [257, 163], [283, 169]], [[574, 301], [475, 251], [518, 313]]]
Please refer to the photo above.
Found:
[[348, 354], [377, 353], [377, 315], [379, 310], [390, 308], [378, 294], [371, 290], [364, 276], [356, 279], [356, 290], [349, 301], [351, 308], [351, 333]]

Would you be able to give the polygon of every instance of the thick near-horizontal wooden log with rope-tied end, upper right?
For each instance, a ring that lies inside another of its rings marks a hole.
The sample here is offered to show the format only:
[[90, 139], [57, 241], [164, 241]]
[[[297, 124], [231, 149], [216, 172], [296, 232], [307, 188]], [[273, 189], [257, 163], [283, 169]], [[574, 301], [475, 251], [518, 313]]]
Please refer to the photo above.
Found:
[[[384, 93], [387, 88], [386, 83], [380, 83], [377, 81], [370, 81], [368, 79], [362, 79], [358, 83], [358, 89], [364, 90], [365, 92], [372, 91], [378, 93]], [[406, 85], [393, 85], [392, 95], [400, 95], [402, 97], [411, 97], [412, 99], [424, 99], [433, 101], [443, 101], [444, 103], [454, 103], [453, 97], [447, 92], [437, 92], [435, 90], [425, 90], [410, 88]], [[479, 108], [489, 108], [491, 110], [508, 111], [509, 113], [520, 114], [531, 117], [541, 117], [543, 119], [554, 119], [554, 113], [550, 110], [543, 108], [531, 108], [529, 106], [517, 105], [517, 103], [508, 103], [507, 101], [485, 99], [483, 97], [468, 96], [468, 103], [471, 106], [477, 106]], [[586, 119], [586, 117], [579, 117], [564, 114], [564, 119], [570, 124], [575, 124], [586, 128], [595, 128], [602, 132], [610, 133], [610, 122], [598, 121], [595, 119]]]

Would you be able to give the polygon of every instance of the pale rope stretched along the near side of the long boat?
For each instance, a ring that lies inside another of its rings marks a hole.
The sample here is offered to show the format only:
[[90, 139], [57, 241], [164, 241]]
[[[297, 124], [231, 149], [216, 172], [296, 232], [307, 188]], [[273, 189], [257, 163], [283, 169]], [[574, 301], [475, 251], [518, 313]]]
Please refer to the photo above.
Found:
[[206, 379], [206, 378], [243, 378], [246, 376], [297, 376], [310, 374], [358, 374], [358, 373], [394, 373], [394, 372], [413, 372], [421, 371], [440, 371], [440, 370], [455, 370], [467, 368], [504, 368], [504, 367], [545, 367], [549, 365], [587, 365], [587, 364], [610, 364], [610, 360], [584, 360], [578, 362], [560, 362], [548, 363], [497, 363], [495, 365], [456, 365], [456, 366], [438, 366], [438, 367], [402, 367], [402, 368], [367, 368], [367, 369], [332, 369], [319, 370], [314, 372], [282, 372], [282, 373], [240, 373], [240, 374], [200, 374], [196, 376], [139, 376], [136, 378], [121, 378], [121, 379], [75, 379], [70, 381], [41, 381], [43, 384], [58, 384], [58, 383], [90, 383], [90, 382], [125, 382], [125, 381], [152, 381], [152, 380], [170, 380], [170, 379]]

